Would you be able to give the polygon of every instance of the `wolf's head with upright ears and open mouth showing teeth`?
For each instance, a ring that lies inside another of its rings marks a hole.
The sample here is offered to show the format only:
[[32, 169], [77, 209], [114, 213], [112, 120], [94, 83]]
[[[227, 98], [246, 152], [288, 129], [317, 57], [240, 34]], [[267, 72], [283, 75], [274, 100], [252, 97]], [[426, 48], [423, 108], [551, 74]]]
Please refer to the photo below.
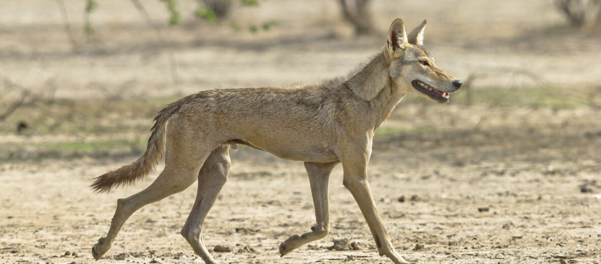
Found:
[[434, 58], [422, 46], [424, 28], [426, 20], [407, 37], [403, 20], [394, 20], [390, 25], [384, 55], [390, 63], [392, 85], [436, 102], [448, 102], [449, 93], [458, 90], [461, 81], [436, 67]]

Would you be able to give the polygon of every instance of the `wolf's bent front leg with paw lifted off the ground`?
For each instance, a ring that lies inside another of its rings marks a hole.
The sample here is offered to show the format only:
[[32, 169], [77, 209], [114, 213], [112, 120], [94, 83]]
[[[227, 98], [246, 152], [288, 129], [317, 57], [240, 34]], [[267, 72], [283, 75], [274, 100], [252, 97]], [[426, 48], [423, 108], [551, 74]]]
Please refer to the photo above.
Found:
[[315, 217], [317, 225], [311, 227], [311, 232], [302, 235], [293, 235], [279, 244], [279, 254], [284, 256], [295, 250], [301, 245], [311, 241], [324, 238], [330, 230], [330, 218], [328, 209], [328, 181], [330, 172], [338, 162], [332, 163], [313, 163], [305, 162], [305, 169], [309, 175], [311, 185], [311, 194], [313, 195], [313, 205], [315, 207]]

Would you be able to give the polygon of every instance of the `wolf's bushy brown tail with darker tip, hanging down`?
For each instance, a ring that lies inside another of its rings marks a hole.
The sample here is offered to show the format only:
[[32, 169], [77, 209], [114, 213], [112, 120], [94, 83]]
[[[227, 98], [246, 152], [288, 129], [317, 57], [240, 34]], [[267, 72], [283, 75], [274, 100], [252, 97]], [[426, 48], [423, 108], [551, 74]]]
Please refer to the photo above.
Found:
[[108, 193], [111, 189], [125, 186], [141, 180], [159, 163], [165, 152], [165, 128], [169, 118], [179, 110], [181, 102], [174, 102], [159, 111], [154, 117], [154, 126], [150, 129], [150, 138], [146, 151], [130, 165], [106, 172], [94, 178], [90, 187], [99, 193]]

